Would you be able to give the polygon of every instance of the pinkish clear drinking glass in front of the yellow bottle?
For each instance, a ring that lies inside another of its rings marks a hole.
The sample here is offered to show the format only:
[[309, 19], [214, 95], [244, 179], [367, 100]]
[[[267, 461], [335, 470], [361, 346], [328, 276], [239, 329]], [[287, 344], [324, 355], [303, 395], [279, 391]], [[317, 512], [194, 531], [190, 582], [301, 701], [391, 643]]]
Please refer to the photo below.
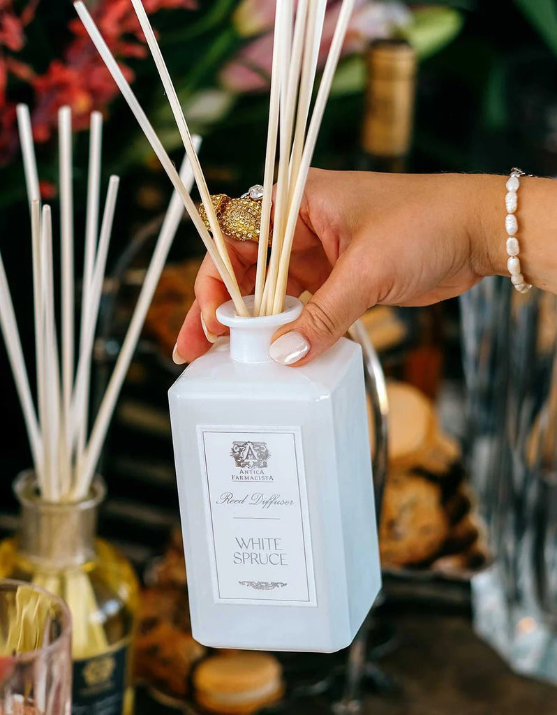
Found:
[[0, 580], [0, 715], [69, 715], [72, 623], [61, 598]]

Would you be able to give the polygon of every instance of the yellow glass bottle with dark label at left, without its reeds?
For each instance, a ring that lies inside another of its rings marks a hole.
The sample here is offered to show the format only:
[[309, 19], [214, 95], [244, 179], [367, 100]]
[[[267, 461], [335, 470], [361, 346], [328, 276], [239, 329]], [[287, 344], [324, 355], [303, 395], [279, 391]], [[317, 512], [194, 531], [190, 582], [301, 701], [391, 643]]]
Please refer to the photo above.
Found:
[[0, 578], [46, 588], [66, 601], [73, 621], [72, 713], [131, 713], [132, 635], [138, 582], [132, 566], [97, 538], [100, 478], [77, 503], [40, 498], [32, 472], [19, 475], [18, 536], [0, 544]]

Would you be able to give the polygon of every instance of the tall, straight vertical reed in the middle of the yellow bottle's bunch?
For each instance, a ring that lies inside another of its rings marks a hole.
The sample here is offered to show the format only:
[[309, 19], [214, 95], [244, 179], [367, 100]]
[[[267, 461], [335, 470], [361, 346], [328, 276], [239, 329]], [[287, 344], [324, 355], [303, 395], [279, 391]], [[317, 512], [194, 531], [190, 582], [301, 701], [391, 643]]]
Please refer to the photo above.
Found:
[[74, 197], [72, 179], [72, 110], [58, 111], [61, 235], [62, 419], [69, 445], [69, 410], [74, 383]]

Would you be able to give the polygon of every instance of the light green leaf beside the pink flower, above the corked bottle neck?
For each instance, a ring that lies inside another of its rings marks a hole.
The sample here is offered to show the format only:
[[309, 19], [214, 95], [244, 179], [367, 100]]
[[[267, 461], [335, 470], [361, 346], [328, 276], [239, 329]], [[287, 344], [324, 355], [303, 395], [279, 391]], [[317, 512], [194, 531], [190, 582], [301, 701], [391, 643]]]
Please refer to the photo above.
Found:
[[453, 41], [464, 24], [460, 12], [450, 7], [422, 7], [412, 14], [413, 20], [399, 34], [410, 42], [420, 60]]

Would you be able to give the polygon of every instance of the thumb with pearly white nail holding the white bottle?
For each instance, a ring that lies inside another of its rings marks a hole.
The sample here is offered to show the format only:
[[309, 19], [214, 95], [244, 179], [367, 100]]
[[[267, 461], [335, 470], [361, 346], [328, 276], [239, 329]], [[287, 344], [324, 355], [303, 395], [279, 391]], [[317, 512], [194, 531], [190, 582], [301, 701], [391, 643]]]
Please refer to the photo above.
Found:
[[275, 332], [269, 354], [276, 363], [297, 367], [309, 363], [363, 315], [369, 305], [357, 273], [350, 261], [338, 260], [300, 317]]

